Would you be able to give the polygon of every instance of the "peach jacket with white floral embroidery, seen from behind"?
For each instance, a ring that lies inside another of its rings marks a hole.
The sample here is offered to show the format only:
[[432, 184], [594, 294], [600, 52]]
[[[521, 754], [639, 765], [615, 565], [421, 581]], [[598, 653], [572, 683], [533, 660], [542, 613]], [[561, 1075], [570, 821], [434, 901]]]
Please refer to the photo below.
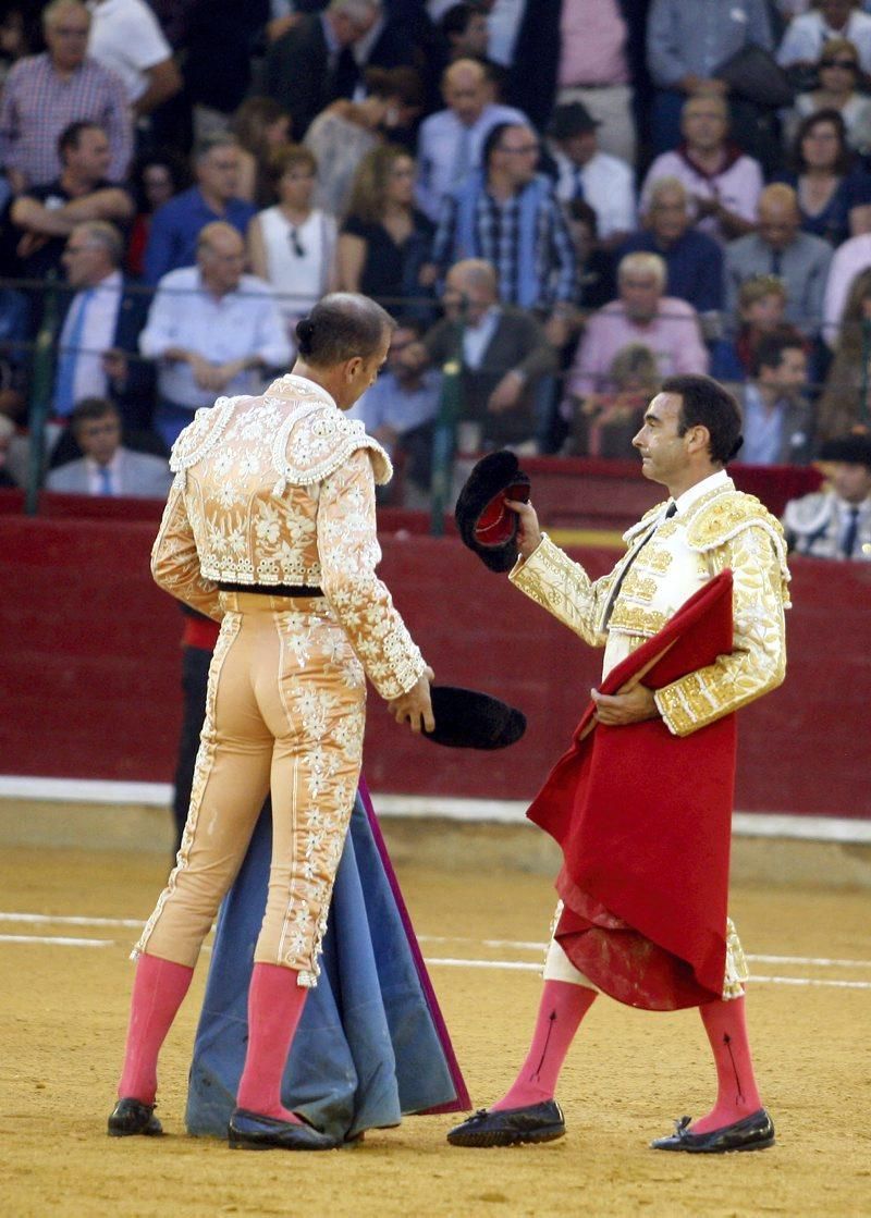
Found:
[[197, 410], [169, 465], [151, 553], [162, 588], [219, 621], [218, 583], [320, 587], [378, 692], [412, 688], [424, 659], [375, 575], [375, 482], [392, 468], [362, 423], [289, 374]]

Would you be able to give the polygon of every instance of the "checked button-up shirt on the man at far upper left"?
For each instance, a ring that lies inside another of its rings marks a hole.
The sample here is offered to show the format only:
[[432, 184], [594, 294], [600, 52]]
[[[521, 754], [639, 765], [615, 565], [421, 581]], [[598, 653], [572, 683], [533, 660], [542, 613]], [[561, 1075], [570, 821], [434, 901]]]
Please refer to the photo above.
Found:
[[85, 58], [65, 79], [48, 54], [29, 55], [10, 72], [0, 102], [0, 164], [28, 186], [61, 173], [57, 138], [71, 123], [97, 123], [112, 153], [107, 178], [123, 181], [133, 152], [133, 125], [121, 77]]

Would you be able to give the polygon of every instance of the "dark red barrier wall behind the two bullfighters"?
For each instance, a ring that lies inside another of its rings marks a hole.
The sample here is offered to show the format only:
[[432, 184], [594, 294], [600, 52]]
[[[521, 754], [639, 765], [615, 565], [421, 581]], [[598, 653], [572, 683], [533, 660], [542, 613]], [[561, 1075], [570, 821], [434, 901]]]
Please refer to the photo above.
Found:
[[[0, 516], [0, 772], [172, 777], [182, 616], [149, 575], [153, 521]], [[580, 717], [601, 657], [453, 538], [381, 538], [381, 572], [443, 683], [529, 717], [503, 753], [439, 749], [370, 693], [379, 790], [530, 798]], [[614, 555], [579, 552], [592, 574]], [[789, 674], [742, 711], [737, 806], [870, 816], [871, 564], [795, 560]]]

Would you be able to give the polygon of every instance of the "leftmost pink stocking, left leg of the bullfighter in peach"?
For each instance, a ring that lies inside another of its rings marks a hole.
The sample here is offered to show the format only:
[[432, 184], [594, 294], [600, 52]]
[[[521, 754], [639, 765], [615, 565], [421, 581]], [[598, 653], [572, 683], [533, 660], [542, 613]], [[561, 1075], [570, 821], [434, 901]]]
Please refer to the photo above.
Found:
[[157, 1055], [188, 993], [194, 970], [160, 956], [140, 955], [133, 982], [130, 1023], [127, 1029], [121, 1099], [153, 1104], [157, 1093]]

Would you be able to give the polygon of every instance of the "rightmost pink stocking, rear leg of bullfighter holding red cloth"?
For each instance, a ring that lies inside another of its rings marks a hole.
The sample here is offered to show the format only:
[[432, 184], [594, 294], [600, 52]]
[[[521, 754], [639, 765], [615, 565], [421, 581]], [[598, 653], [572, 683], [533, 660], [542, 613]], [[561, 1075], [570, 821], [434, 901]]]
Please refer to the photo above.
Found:
[[753, 1077], [747, 1040], [744, 999], [718, 999], [699, 1007], [716, 1066], [716, 1104], [689, 1128], [694, 1134], [721, 1129], [749, 1117], [763, 1106]]

